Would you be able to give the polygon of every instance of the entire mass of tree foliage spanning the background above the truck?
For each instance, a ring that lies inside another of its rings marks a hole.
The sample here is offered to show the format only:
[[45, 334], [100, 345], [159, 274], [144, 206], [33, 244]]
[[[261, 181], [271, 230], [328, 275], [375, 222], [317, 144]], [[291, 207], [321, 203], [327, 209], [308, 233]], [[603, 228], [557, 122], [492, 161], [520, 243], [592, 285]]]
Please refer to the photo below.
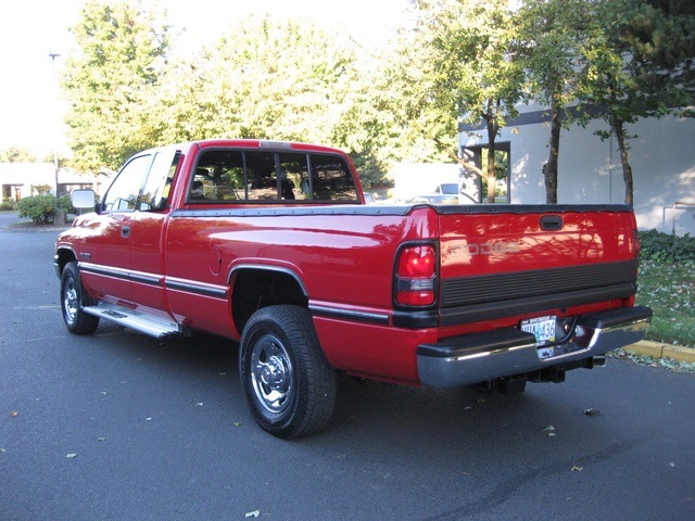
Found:
[[[619, 134], [630, 117], [692, 106], [686, 0], [525, 0], [518, 11], [508, 0], [409, 3], [412, 25], [383, 48], [265, 15], [172, 63], [161, 0], [88, 0], [62, 81], [71, 166], [115, 169], [176, 141], [268, 138], [340, 147], [369, 185], [397, 162], [456, 158], [460, 123], [486, 127], [494, 150], [521, 99], [559, 111], [579, 96], [619, 116], [606, 119]], [[494, 179], [493, 161], [485, 171], [465, 166]]]

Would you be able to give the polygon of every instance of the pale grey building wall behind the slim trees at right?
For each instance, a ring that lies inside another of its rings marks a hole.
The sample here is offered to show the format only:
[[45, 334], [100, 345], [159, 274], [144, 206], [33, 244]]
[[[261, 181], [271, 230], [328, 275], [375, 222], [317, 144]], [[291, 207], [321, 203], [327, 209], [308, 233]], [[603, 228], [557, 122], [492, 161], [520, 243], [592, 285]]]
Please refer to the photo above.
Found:
[[[548, 156], [548, 112], [522, 107], [497, 137], [507, 152], [507, 196], [513, 204], [545, 202], [543, 166]], [[558, 204], [624, 202], [622, 165], [615, 139], [594, 135], [602, 120], [586, 128], [563, 129], [558, 166]], [[471, 131], [477, 136], [471, 137]], [[642, 230], [695, 234], [695, 119], [667, 116], [642, 119], [628, 128], [631, 139], [634, 212]], [[460, 127], [459, 147], [480, 161], [488, 143], [484, 129]]]

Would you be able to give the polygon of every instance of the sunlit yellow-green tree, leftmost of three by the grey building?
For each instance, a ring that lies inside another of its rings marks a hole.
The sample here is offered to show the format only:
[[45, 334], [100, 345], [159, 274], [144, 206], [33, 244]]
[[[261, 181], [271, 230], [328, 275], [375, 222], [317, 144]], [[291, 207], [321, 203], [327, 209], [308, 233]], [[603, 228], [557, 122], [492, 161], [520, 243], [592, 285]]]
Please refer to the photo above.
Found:
[[[417, 23], [403, 48], [405, 115], [427, 139], [464, 168], [488, 179], [488, 202], [495, 200], [495, 139], [517, 113], [522, 75], [510, 51], [516, 41], [507, 0], [414, 2]], [[482, 123], [488, 130], [483, 171], [458, 157], [459, 123]]]

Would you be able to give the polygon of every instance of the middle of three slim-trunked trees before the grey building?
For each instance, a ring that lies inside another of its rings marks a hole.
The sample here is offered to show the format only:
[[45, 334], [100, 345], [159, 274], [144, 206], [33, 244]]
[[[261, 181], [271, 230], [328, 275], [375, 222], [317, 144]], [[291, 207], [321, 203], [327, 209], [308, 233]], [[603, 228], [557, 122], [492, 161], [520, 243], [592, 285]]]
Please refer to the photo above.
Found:
[[551, 137], [544, 165], [546, 203], [557, 204], [560, 134], [572, 120], [584, 63], [583, 46], [592, 28], [593, 3], [586, 0], [527, 0], [518, 13], [518, 59], [531, 100], [549, 107]]

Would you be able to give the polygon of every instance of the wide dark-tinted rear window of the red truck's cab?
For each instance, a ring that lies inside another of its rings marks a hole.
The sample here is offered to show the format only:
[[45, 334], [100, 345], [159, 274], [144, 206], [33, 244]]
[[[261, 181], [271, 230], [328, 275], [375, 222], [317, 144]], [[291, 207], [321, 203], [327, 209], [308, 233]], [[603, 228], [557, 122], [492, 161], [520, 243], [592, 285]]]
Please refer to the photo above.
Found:
[[204, 151], [188, 202], [357, 202], [343, 157], [305, 152]]

